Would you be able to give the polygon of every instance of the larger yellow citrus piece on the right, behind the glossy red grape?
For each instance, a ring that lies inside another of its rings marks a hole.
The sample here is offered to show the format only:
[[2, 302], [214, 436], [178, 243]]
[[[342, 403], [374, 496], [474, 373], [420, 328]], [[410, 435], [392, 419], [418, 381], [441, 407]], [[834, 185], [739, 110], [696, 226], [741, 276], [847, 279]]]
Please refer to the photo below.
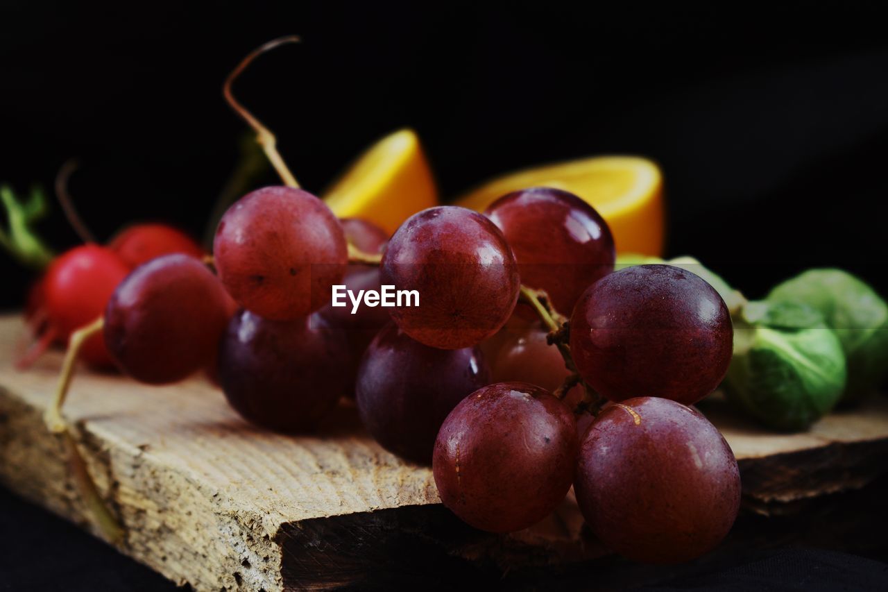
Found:
[[475, 188], [456, 205], [484, 210], [497, 197], [531, 187], [564, 189], [591, 204], [614, 233], [619, 252], [662, 255], [662, 174], [639, 156], [595, 156], [512, 172]]

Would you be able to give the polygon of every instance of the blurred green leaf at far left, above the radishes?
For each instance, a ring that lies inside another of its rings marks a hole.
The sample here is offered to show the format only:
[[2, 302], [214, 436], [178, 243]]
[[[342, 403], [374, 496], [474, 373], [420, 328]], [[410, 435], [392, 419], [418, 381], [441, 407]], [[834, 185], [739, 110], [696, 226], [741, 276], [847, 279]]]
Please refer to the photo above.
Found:
[[0, 246], [29, 267], [45, 268], [54, 254], [31, 228], [46, 213], [44, 192], [40, 188], [33, 188], [28, 199], [20, 201], [12, 188], [3, 185], [0, 186], [0, 201], [9, 223], [8, 231], [0, 228]]

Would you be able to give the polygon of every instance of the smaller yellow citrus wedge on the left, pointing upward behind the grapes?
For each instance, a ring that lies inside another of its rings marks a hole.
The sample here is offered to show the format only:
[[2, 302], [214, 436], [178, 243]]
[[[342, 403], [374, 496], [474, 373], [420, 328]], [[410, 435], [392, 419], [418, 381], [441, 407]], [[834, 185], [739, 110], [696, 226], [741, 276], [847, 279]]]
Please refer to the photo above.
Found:
[[432, 170], [413, 130], [400, 130], [367, 149], [324, 199], [340, 218], [363, 218], [388, 233], [412, 214], [438, 205]]

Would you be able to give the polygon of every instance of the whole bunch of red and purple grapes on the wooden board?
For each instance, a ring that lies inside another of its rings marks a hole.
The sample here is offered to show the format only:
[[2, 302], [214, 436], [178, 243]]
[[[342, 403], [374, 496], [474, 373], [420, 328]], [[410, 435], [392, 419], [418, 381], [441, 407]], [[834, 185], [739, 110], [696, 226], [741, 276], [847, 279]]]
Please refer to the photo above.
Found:
[[[490, 532], [535, 524], [572, 485], [591, 532], [638, 561], [699, 556], [733, 524], [736, 460], [688, 406], [725, 375], [725, 303], [681, 268], [614, 271], [606, 222], [572, 194], [434, 207], [389, 238], [262, 188], [219, 222], [214, 265], [165, 255], [117, 286], [104, 337], [123, 372], [160, 384], [212, 366], [237, 412], [289, 433], [353, 394], [369, 433], [431, 463], [444, 504]], [[420, 305], [352, 314], [330, 306], [334, 284]]]

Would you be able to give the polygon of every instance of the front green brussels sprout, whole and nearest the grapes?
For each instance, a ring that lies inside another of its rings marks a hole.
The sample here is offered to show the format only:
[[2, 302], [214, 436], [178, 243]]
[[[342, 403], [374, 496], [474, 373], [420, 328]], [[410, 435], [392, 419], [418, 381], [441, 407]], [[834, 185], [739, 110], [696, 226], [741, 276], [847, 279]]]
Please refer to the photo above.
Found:
[[749, 302], [733, 336], [725, 393], [765, 426], [805, 429], [842, 396], [842, 345], [814, 308]]

